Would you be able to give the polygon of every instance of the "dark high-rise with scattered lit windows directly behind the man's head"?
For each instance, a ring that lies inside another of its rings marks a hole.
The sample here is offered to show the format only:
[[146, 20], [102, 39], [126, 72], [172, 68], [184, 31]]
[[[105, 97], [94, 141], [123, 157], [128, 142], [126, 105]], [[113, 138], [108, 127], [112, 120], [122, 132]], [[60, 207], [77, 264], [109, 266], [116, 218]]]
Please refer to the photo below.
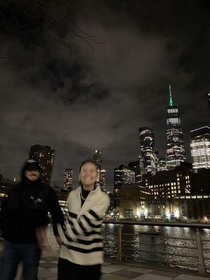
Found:
[[38, 162], [41, 166], [41, 178], [43, 183], [50, 185], [55, 150], [52, 150], [50, 146], [34, 145], [31, 146], [29, 158]]

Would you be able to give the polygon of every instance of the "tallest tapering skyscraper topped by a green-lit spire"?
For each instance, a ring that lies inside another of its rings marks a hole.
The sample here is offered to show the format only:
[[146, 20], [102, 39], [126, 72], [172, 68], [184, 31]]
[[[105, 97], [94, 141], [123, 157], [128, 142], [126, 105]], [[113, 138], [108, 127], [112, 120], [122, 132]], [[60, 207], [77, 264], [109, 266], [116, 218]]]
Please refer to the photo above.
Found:
[[172, 99], [172, 88], [169, 85], [169, 106], [167, 107], [167, 170], [174, 169], [186, 161], [186, 151], [183, 143], [183, 132], [179, 109]]

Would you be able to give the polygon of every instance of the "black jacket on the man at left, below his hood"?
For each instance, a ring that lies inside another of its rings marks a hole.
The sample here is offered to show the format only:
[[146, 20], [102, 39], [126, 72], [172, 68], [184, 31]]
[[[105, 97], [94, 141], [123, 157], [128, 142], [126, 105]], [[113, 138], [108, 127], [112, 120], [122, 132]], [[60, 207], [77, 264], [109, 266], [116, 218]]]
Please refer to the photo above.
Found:
[[3, 238], [15, 243], [36, 242], [36, 228], [47, 225], [48, 212], [53, 224], [63, 223], [55, 191], [40, 180], [31, 184], [22, 181], [1, 204]]

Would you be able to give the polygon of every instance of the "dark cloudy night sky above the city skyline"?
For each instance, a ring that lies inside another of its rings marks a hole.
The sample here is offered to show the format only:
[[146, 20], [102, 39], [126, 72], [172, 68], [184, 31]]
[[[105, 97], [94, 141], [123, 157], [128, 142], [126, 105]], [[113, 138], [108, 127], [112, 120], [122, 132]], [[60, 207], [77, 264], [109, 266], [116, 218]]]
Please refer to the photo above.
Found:
[[[28, 2], [28, 3], [27, 3]], [[65, 168], [102, 151], [113, 169], [137, 160], [139, 127], [165, 156], [168, 85], [190, 130], [209, 125], [210, 1], [2, 1], [0, 174], [18, 177], [34, 144]]]

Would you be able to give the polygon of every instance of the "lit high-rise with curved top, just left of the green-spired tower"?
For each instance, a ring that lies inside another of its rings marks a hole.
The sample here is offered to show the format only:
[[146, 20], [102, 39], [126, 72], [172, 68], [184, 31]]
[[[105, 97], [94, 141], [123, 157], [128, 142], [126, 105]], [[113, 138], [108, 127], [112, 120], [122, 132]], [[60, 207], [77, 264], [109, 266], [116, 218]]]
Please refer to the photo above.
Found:
[[141, 156], [147, 174], [156, 173], [155, 165], [155, 137], [154, 132], [149, 127], [140, 127]]

